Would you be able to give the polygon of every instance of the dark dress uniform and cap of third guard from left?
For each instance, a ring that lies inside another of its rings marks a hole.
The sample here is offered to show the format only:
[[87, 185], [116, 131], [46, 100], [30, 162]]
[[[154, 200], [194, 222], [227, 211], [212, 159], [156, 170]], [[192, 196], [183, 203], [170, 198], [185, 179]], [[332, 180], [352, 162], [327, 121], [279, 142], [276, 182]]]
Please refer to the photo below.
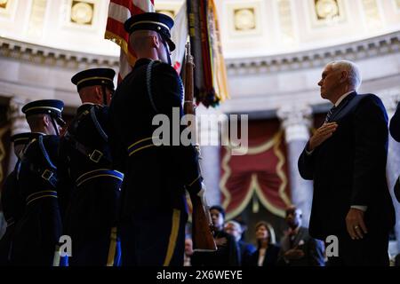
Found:
[[[99, 85], [114, 91], [113, 69], [84, 70], [72, 77], [78, 91]], [[103, 90], [105, 92], [105, 90]], [[70, 186], [64, 221], [72, 241], [72, 265], [118, 265], [116, 217], [124, 175], [112, 168], [108, 146], [108, 106], [84, 104], [60, 144], [60, 186]]]

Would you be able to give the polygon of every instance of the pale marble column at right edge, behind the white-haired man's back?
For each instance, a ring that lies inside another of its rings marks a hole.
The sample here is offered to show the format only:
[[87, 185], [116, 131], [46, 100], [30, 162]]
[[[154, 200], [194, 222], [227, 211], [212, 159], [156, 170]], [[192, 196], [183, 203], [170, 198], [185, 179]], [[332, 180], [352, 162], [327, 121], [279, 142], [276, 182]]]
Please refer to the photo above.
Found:
[[[381, 94], [383, 104], [385, 105], [388, 112], [388, 119], [392, 118], [395, 114], [397, 103], [400, 101], [400, 89], [390, 90]], [[392, 196], [393, 205], [396, 210], [396, 251], [393, 253], [400, 252], [400, 203], [397, 202], [393, 188], [396, 184], [396, 178], [400, 175], [400, 143], [396, 142], [394, 138], [389, 134], [388, 136], [388, 163], [387, 163], [387, 179], [388, 189]], [[394, 248], [392, 248], [394, 249]]]

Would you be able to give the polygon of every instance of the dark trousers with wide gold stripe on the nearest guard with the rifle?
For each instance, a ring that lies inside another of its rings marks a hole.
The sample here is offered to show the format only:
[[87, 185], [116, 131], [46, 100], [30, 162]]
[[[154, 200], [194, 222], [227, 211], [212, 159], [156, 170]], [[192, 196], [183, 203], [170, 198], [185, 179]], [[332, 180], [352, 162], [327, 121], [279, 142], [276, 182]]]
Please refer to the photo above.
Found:
[[121, 220], [123, 266], [183, 266], [188, 214], [179, 209], [133, 213]]

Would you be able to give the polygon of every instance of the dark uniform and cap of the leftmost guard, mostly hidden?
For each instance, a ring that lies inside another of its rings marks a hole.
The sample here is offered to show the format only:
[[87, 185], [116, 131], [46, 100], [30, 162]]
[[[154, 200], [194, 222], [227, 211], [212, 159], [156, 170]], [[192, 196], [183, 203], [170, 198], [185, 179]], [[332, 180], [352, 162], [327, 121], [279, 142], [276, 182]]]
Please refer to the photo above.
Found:
[[10, 264], [10, 255], [12, 249], [12, 235], [14, 233], [15, 224], [22, 217], [25, 209], [25, 200], [20, 196], [18, 176], [20, 170], [20, 152], [33, 139], [37, 138], [37, 133], [20, 133], [13, 135], [11, 140], [14, 146], [15, 154], [18, 161], [15, 164], [14, 170], [5, 178], [2, 190], [2, 208], [4, 212], [7, 228], [0, 240], [0, 265]]

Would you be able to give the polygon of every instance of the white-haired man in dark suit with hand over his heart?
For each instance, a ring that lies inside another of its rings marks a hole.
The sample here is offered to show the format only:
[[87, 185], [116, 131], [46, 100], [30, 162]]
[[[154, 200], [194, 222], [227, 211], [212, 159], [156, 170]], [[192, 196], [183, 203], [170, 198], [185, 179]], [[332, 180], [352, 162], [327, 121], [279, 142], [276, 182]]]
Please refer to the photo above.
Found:
[[386, 180], [388, 115], [377, 96], [356, 93], [360, 83], [352, 62], [324, 68], [321, 97], [334, 106], [299, 158], [301, 177], [314, 181], [309, 233], [339, 240], [339, 256], [328, 255], [332, 265], [388, 265], [395, 222]]

